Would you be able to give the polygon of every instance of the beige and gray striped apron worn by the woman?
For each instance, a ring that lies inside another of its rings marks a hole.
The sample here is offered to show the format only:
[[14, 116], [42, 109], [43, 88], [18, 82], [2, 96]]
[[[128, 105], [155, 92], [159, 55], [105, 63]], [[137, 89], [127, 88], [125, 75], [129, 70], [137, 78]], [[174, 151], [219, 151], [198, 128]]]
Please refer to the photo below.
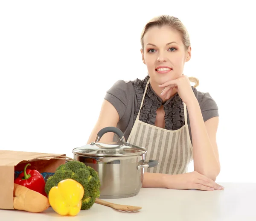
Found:
[[[149, 80], [145, 87], [140, 109], [143, 105]], [[157, 160], [159, 164], [145, 172], [183, 174], [193, 159], [193, 147], [189, 137], [186, 104], [184, 105], [185, 125], [178, 130], [166, 130], [139, 120], [140, 110], [131, 129], [127, 142], [147, 148], [145, 160]]]

